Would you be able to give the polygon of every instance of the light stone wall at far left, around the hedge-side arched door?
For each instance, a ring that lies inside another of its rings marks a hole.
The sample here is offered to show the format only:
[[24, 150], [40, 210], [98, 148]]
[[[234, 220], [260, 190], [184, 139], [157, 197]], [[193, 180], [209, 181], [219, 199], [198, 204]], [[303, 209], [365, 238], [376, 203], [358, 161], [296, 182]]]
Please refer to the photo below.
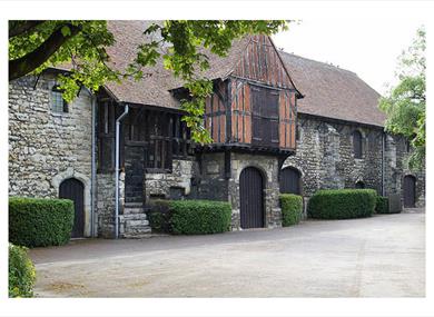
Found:
[[51, 110], [55, 76], [9, 83], [9, 195], [57, 198], [60, 182], [85, 185], [85, 235], [90, 234], [91, 96], [82, 89], [69, 112]]

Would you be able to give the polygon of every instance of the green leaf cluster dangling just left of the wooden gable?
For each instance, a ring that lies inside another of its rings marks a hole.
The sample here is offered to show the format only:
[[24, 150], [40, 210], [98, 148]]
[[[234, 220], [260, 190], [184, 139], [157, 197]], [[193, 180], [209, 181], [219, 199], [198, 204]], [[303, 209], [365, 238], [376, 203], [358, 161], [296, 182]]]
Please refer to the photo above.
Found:
[[[139, 71], [161, 58], [165, 68], [180, 78], [189, 90], [190, 98], [181, 101], [181, 108], [187, 112], [183, 120], [191, 129], [193, 140], [209, 143], [213, 139], [203, 121], [205, 100], [213, 93], [213, 82], [201, 76], [201, 71], [209, 68], [207, 53], [224, 57], [235, 39], [248, 33], [272, 34], [286, 28], [284, 20], [167, 20], [161, 26], [154, 23], [144, 33], [158, 40], [139, 47], [129, 70]], [[160, 46], [164, 51], [159, 50]]]

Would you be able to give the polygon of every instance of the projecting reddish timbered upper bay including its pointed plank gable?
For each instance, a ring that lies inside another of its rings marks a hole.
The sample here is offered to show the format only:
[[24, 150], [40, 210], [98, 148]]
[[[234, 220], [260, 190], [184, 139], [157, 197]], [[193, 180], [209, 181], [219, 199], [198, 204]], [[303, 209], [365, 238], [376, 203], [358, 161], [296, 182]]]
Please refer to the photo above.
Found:
[[293, 150], [296, 89], [266, 36], [253, 36], [239, 62], [206, 100], [205, 127], [214, 143]]

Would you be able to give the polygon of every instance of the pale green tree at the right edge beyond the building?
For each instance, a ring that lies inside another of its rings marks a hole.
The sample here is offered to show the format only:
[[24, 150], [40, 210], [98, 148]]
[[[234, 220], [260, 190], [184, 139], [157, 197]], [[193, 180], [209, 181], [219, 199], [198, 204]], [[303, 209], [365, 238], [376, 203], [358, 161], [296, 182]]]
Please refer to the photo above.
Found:
[[398, 58], [400, 82], [379, 99], [379, 109], [387, 115], [386, 131], [406, 137], [413, 151], [408, 166], [421, 169], [425, 162], [425, 29]]

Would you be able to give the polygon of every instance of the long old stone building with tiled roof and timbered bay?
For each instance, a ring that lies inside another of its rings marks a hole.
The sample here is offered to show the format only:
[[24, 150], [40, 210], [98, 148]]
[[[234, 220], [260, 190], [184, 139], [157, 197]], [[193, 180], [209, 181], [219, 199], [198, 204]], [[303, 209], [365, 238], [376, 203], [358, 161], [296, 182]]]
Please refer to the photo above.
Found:
[[[122, 68], [147, 21], [111, 21], [107, 48]], [[233, 206], [233, 228], [278, 227], [279, 192], [374, 188], [423, 206], [424, 172], [408, 170], [406, 140], [384, 132], [379, 97], [355, 73], [276, 50], [265, 36], [209, 55], [214, 81], [205, 127], [189, 137], [188, 96], [161, 63], [140, 81], [86, 88], [66, 103], [48, 69], [9, 87], [9, 194], [76, 202], [73, 236], [142, 237], [152, 199], [214, 199]]]

